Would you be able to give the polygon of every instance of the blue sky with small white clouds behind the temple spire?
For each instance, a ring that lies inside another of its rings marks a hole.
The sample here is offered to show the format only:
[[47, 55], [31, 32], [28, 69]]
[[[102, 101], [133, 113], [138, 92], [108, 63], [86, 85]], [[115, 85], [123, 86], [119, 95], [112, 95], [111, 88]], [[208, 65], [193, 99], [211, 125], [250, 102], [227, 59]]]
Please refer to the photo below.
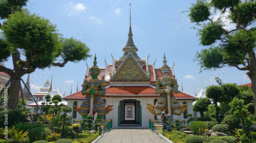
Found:
[[[216, 71], [200, 72], [198, 62], [194, 62], [195, 54], [204, 46], [199, 45], [197, 31], [190, 28], [187, 18], [191, 3], [196, 1], [67, 1], [67, 0], [31, 0], [27, 8], [31, 13], [40, 14], [57, 25], [57, 30], [63, 37], [80, 39], [91, 49], [90, 54], [97, 55], [98, 66], [105, 67], [105, 62], [112, 63], [112, 56], [119, 59], [123, 55], [122, 48], [128, 39], [130, 25], [130, 6], [132, 15], [133, 40], [139, 49], [137, 54], [141, 59], [150, 54], [149, 64], [157, 59], [156, 68], [163, 65], [165, 53], [167, 65], [175, 62], [174, 72], [178, 79], [179, 90], [181, 82], [183, 91], [195, 95], [203, 87], [217, 84], [214, 80], [219, 76], [226, 83], [249, 83], [244, 71], [235, 68], [222, 68]], [[216, 14], [218, 17], [218, 13]], [[228, 25], [231, 29], [233, 25]], [[93, 58], [88, 59], [88, 65], [93, 65]], [[12, 67], [12, 62], [5, 63]], [[69, 62], [63, 68], [45, 70], [36, 69], [30, 76], [31, 92], [34, 94], [53, 74], [53, 88], [61, 93], [70, 94], [76, 91], [77, 82], [81, 84], [86, 74], [86, 62], [77, 64]], [[25, 82], [27, 75], [22, 77]]]

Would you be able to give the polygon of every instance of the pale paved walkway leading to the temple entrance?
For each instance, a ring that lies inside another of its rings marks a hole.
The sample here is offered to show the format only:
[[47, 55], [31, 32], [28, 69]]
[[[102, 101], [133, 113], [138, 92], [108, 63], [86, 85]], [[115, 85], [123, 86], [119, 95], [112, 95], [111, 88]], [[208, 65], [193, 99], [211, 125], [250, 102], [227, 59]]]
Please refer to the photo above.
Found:
[[146, 128], [115, 128], [104, 135], [97, 143], [161, 143], [164, 142], [158, 138], [152, 131]]

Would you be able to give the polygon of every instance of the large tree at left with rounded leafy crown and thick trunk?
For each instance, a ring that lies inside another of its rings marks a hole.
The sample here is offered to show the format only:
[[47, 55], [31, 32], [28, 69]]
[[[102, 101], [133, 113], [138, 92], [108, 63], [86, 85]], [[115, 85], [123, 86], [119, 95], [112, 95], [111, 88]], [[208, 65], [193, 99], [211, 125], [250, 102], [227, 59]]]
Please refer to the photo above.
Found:
[[8, 107], [11, 109], [18, 105], [23, 75], [35, 69], [63, 67], [69, 61], [77, 63], [91, 57], [86, 44], [73, 38], [62, 38], [50, 20], [23, 10], [26, 2], [0, 0], [0, 17], [5, 20], [3, 25], [0, 23], [0, 61], [8, 61], [11, 57], [13, 62], [13, 69], [0, 66], [0, 71], [12, 78], [8, 89]]

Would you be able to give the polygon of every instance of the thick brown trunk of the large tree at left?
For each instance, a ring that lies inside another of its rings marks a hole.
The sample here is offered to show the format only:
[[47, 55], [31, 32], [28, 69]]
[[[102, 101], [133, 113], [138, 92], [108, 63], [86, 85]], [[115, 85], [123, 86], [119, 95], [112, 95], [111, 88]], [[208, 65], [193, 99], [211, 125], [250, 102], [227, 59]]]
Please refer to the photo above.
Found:
[[12, 78], [11, 85], [8, 89], [8, 108], [17, 109], [19, 101], [19, 87], [20, 87], [20, 78]]

